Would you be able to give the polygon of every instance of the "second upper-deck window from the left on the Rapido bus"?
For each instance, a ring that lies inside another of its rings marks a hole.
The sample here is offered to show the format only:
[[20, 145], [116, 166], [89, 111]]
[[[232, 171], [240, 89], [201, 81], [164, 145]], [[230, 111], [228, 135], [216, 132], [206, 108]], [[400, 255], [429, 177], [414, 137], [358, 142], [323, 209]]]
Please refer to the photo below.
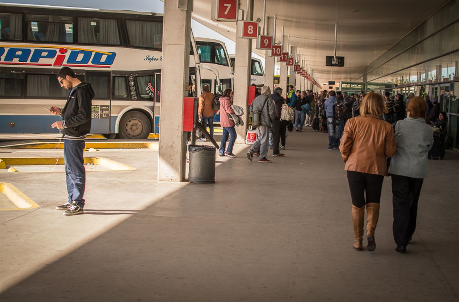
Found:
[[27, 39], [39, 42], [73, 42], [73, 17], [27, 15]]

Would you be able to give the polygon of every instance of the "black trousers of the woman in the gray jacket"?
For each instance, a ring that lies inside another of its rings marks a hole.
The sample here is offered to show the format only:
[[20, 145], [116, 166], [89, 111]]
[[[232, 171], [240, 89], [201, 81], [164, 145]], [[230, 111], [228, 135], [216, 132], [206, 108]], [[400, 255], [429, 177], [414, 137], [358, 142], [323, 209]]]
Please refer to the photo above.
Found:
[[416, 229], [418, 200], [422, 178], [392, 175], [392, 206], [394, 222], [392, 232], [397, 246], [406, 246]]

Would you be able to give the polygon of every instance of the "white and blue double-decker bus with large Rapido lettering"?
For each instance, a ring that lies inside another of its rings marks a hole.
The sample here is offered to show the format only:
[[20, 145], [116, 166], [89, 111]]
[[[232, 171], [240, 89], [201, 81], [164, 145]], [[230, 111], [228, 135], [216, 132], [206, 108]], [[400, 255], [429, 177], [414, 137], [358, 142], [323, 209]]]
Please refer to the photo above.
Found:
[[[71, 67], [92, 84], [91, 133], [147, 138], [159, 133], [160, 14], [48, 5], [0, 4], [0, 133], [54, 133], [67, 90], [56, 72]], [[191, 34], [189, 96], [201, 90]], [[178, 88], [180, 89], [180, 88]]]

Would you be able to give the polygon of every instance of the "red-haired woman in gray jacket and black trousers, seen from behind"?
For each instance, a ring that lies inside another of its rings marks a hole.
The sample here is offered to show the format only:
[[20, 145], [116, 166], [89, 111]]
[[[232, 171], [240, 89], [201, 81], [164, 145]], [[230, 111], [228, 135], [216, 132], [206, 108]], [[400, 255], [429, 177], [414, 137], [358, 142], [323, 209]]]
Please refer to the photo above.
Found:
[[405, 253], [416, 228], [416, 215], [422, 182], [427, 177], [427, 153], [433, 144], [432, 127], [425, 123], [427, 104], [414, 97], [407, 104], [408, 117], [397, 121], [395, 143], [397, 151], [391, 159], [392, 231], [397, 252]]

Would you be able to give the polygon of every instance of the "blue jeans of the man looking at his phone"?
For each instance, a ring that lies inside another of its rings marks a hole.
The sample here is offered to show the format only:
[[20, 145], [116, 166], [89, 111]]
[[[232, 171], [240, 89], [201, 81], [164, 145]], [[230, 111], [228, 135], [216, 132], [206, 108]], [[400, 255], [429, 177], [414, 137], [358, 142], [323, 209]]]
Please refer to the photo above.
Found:
[[84, 141], [64, 139], [65, 178], [67, 181], [68, 203], [74, 201], [84, 207], [86, 171], [83, 159]]

